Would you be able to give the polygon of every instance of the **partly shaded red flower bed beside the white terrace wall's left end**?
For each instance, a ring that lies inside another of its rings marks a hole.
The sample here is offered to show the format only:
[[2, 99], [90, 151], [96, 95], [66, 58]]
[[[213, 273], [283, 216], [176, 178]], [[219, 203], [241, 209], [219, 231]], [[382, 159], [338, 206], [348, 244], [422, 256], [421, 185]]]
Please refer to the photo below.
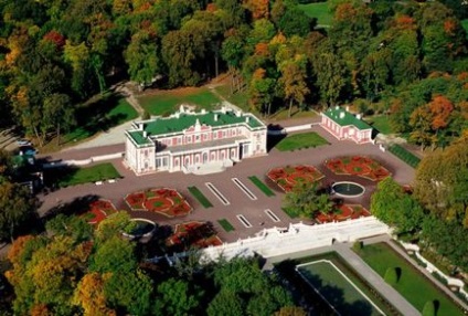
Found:
[[215, 246], [222, 243], [210, 223], [199, 221], [177, 224], [173, 234], [166, 241], [167, 246], [179, 246], [183, 250]]

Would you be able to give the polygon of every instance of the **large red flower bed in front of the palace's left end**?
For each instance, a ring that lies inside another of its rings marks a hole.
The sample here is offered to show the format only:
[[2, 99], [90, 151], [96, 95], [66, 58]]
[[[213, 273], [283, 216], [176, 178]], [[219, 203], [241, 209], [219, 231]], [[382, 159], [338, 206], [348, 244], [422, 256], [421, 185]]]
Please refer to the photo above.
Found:
[[183, 217], [192, 211], [189, 202], [174, 189], [159, 188], [138, 191], [125, 197], [132, 211], [149, 211], [168, 218]]

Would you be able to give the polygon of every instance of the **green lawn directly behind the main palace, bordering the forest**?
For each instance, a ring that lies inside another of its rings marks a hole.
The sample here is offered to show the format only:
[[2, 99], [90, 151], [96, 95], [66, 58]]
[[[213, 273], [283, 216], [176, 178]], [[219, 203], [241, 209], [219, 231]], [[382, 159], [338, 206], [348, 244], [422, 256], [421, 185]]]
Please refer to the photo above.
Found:
[[161, 91], [138, 97], [141, 106], [152, 115], [169, 116], [181, 104], [195, 105], [196, 109], [213, 109], [221, 101], [208, 87]]

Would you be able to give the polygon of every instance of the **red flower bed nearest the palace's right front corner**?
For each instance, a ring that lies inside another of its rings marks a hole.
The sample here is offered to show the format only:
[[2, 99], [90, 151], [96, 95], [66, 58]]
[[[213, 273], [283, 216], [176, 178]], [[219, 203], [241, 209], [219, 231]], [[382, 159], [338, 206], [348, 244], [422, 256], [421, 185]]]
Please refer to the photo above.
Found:
[[275, 168], [269, 170], [267, 176], [285, 192], [292, 190], [299, 182], [310, 183], [323, 178], [323, 175], [317, 168], [306, 165]]

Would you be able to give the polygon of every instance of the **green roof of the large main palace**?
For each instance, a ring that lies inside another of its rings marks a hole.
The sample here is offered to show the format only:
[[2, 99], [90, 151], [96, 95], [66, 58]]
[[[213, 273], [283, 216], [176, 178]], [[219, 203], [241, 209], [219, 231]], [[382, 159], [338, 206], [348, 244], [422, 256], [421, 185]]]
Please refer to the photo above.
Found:
[[[248, 122], [247, 122], [248, 117]], [[158, 117], [152, 120], [143, 122], [143, 130], [129, 130], [128, 134], [138, 145], [151, 144], [151, 141], [143, 137], [143, 131], [148, 137], [164, 135], [164, 134], [180, 134], [184, 129], [196, 124], [208, 125], [211, 127], [225, 127], [235, 124], [246, 124], [251, 128], [264, 127], [265, 125], [252, 114], [236, 115], [234, 110], [226, 112], [206, 112], [206, 113], [180, 113], [179, 117]], [[140, 124], [140, 123], [137, 123]]]

